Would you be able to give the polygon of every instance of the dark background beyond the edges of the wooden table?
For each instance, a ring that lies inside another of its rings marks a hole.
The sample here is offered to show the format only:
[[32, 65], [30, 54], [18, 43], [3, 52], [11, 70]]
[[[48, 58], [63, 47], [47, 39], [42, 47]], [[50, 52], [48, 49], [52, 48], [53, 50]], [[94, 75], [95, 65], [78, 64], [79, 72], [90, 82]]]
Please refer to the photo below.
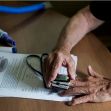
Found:
[[[39, 1], [0, 1], [0, 5], [8, 6], [23, 6], [35, 3], [39, 3]], [[71, 17], [76, 14], [78, 10], [87, 6], [90, 1], [51, 1], [50, 3], [53, 5], [53, 10]], [[111, 22], [103, 24], [93, 32], [111, 51]]]

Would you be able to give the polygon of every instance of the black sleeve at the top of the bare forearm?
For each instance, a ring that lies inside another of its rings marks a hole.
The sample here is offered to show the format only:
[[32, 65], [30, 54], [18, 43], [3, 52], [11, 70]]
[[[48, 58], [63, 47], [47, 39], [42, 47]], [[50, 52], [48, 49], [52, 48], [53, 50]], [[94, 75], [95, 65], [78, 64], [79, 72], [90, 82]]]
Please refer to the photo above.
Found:
[[103, 21], [111, 21], [111, 1], [93, 1], [90, 3], [91, 13]]

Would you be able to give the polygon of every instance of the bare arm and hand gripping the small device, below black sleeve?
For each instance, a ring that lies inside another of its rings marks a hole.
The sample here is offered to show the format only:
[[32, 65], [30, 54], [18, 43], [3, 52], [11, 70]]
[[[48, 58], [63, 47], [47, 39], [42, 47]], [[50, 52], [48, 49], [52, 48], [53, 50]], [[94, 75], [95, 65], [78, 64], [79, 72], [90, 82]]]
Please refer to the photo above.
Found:
[[[56, 44], [56, 50], [49, 54], [45, 62], [46, 83], [50, 86], [62, 65], [67, 67], [70, 79], [74, 79], [74, 63], [70, 52], [72, 48], [90, 31], [100, 26], [104, 21], [97, 19], [89, 6], [77, 12], [64, 26]], [[84, 26], [84, 28], [83, 28]], [[59, 49], [59, 50], [58, 50]]]

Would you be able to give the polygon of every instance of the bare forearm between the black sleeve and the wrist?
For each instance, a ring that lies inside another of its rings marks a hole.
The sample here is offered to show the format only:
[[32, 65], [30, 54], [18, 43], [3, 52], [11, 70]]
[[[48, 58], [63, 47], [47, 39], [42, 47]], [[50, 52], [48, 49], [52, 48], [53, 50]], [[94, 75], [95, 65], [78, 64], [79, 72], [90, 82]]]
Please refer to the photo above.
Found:
[[62, 30], [56, 49], [70, 52], [88, 32], [97, 28], [102, 23], [103, 21], [91, 14], [89, 7], [80, 10], [68, 21]]

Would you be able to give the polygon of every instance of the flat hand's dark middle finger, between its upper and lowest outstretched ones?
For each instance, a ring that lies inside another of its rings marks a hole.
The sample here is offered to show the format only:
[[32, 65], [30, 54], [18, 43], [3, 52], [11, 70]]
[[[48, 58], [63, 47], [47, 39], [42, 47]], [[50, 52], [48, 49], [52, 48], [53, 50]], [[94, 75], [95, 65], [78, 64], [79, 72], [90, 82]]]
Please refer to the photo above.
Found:
[[89, 89], [87, 87], [75, 87], [75, 88], [69, 88], [63, 92], [61, 92], [60, 96], [74, 96], [74, 95], [80, 95], [80, 94], [89, 94]]

